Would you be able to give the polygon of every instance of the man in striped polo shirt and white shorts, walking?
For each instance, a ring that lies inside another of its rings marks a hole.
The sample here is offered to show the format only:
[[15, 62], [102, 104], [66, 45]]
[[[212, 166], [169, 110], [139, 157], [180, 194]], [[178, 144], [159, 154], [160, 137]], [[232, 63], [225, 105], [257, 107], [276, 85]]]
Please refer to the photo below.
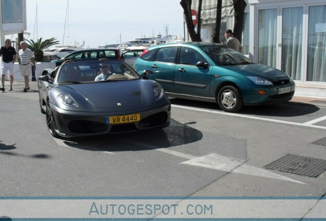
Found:
[[36, 70], [35, 57], [34, 52], [27, 48], [25, 41], [21, 41], [20, 45], [22, 49], [18, 52], [19, 71], [25, 79], [25, 88], [23, 91], [27, 92], [29, 90], [29, 76], [32, 75], [31, 61], [34, 64], [34, 71]]

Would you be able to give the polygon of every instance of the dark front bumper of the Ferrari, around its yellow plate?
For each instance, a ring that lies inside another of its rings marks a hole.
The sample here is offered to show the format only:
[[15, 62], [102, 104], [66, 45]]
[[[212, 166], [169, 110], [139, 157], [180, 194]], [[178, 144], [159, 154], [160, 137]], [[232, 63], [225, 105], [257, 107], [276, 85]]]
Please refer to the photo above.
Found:
[[[170, 124], [171, 104], [166, 102], [159, 106], [136, 109], [129, 112], [75, 112], [63, 110], [50, 103], [55, 131], [62, 137], [79, 137], [103, 135], [115, 132], [128, 132], [166, 127]], [[107, 117], [140, 114], [140, 121], [109, 124]]]

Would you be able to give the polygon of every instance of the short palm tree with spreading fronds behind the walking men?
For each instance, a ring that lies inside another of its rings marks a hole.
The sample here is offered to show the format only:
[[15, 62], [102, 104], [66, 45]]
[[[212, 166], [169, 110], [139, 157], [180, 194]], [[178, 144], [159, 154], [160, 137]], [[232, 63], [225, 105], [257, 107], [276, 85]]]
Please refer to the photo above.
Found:
[[32, 50], [35, 55], [35, 60], [42, 61], [43, 60], [43, 50], [53, 46], [58, 45], [59, 41], [56, 38], [50, 38], [42, 41], [42, 38], [39, 38], [37, 41], [26, 40], [26, 46], [28, 49]]

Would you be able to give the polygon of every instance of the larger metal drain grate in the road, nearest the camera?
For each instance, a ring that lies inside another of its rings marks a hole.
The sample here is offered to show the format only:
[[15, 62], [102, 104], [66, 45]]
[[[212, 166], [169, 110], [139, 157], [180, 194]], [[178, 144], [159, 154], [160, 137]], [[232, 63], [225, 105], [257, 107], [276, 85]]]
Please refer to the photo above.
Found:
[[315, 178], [326, 170], [326, 160], [288, 154], [287, 156], [264, 166], [264, 168]]

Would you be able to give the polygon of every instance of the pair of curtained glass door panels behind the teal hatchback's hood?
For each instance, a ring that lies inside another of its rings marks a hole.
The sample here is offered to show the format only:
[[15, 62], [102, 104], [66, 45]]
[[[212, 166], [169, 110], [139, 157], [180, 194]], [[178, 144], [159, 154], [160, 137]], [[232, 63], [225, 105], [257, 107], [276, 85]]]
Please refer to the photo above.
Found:
[[260, 9], [258, 17], [258, 63], [300, 80], [303, 7]]

